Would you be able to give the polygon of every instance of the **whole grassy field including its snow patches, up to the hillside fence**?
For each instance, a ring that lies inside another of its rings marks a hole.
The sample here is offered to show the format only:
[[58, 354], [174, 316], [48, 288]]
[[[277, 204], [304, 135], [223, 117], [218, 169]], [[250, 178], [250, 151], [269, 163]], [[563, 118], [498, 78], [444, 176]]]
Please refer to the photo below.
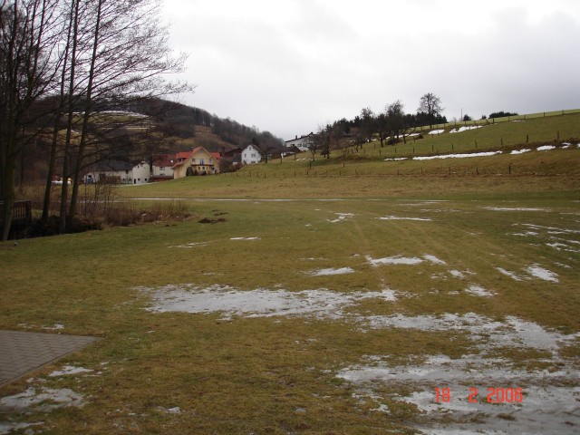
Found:
[[[2, 387], [0, 428], [576, 433], [579, 152], [121, 188], [197, 218], [0, 248], [0, 328], [102, 337]], [[14, 406], [30, 389], [47, 398]]]

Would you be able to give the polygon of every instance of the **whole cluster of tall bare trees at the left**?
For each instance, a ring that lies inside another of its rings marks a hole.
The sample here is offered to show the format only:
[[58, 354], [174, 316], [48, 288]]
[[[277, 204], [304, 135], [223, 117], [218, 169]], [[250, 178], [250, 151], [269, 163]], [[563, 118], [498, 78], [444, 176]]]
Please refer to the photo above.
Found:
[[[75, 217], [81, 171], [151, 140], [154, 122], [127, 111], [145, 99], [192, 90], [169, 82], [173, 55], [160, 0], [0, 0], [0, 200], [8, 237], [14, 171], [23, 151], [48, 150], [41, 220], [52, 180], [63, 182], [59, 230]], [[57, 164], [59, 167], [57, 168]]]

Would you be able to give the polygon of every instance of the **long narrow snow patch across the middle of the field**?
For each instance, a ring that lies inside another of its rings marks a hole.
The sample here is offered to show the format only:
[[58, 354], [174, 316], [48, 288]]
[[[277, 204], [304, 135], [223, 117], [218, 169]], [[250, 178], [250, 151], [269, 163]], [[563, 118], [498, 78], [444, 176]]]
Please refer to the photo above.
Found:
[[229, 319], [233, 315], [246, 317], [310, 316], [337, 319], [343, 317], [343, 309], [365, 299], [396, 301], [397, 292], [384, 289], [381, 292], [338, 293], [325, 289], [290, 292], [286, 290], [243, 291], [228, 285], [166, 285], [157, 289], [140, 287], [153, 299], [148, 308], [153, 313], [223, 313]]

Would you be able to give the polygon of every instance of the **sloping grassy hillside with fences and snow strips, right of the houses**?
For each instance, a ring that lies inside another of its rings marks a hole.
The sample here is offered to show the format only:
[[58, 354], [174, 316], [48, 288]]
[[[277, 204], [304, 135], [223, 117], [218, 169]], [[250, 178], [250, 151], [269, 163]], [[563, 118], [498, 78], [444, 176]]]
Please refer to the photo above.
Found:
[[[418, 129], [395, 145], [381, 146], [373, 139], [356, 146], [344, 138], [328, 159], [316, 153], [311, 161], [313, 155], [304, 152], [243, 171], [259, 170], [266, 176], [295, 171], [304, 175], [478, 175], [510, 170], [520, 175], [580, 173], [576, 145], [580, 142], [580, 112], [476, 122], [479, 124], [458, 122]], [[463, 158], [458, 156], [464, 154]]]

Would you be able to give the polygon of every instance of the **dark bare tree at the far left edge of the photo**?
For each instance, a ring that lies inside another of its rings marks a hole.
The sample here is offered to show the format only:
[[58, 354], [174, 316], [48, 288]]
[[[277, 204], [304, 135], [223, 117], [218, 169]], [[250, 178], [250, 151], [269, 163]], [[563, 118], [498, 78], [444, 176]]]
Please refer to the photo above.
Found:
[[0, 199], [5, 240], [14, 206], [14, 171], [43, 118], [34, 103], [53, 89], [59, 57], [53, 53], [59, 22], [57, 0], [0, 2]]

